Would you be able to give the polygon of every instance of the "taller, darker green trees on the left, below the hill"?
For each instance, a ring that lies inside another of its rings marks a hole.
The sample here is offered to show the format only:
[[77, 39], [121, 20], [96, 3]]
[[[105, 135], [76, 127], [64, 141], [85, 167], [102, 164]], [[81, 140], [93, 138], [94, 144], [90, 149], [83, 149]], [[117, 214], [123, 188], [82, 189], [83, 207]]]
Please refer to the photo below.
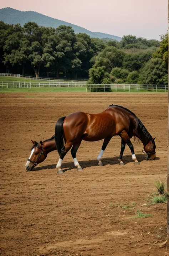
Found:
[[1, 72], [16, 73], [22, 68], [22, 74], [34, 70], [36, 77], [40, 72], [42, 75], [50, 72], [57, 78], [67, 73], [67, 76], [88, 77], [91, 58], [105, 47], [101, 39], [75, 34], [65, 25], [55, 29], [35, 22], [25, 23], [24, 27], [0, 22], [0, 34]]

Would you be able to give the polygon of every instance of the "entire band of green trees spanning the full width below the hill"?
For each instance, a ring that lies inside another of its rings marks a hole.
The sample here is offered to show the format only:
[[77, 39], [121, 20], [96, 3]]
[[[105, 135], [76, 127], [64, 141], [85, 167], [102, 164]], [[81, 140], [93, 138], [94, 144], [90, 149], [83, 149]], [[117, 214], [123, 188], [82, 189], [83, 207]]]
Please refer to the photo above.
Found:
[[75, 34], [70, 26], [0, 22], [1, 72], [86, 77], [89, 84], [167, 84], [168, 34], [161, 41], [124, 35], [120, 42]]

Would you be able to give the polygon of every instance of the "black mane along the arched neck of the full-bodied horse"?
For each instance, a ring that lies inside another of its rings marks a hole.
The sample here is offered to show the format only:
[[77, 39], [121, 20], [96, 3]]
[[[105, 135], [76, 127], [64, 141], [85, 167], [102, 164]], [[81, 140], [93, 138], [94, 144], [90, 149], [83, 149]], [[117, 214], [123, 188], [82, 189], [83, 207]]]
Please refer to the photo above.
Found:
[[[152, 141], [153, 140], [153, 137], [151, 136], [151, 134], [147, 131], [147, 129], [145, 128], [144, 124], [140, 121], [140, 119], [132, 112], [130, 111], [129, 109], [127, 108], [124, 108], [123, 106], [118, 106], [118, 105], [109, 105], [110, 107], [114, 107], [114, 106], [117, 106], [119, 108], [123, 108], [125, 110], [127, 110], [128, 112], [130, 112], [132, 115], [134, 115], [134, 117], [136, 117], [136, 120], [137, 120], [137, 123], [136, 123], [136, 127], [134, 129], [134, 133], [139, 135], [140, 132], [143, 132], [143, 134], [145, 135], [145, 138], [146, 138], [146, 141], [149, 142], [149, 141]], [[155, 142], [154, 142], [154, 145], [155, 145]]]

